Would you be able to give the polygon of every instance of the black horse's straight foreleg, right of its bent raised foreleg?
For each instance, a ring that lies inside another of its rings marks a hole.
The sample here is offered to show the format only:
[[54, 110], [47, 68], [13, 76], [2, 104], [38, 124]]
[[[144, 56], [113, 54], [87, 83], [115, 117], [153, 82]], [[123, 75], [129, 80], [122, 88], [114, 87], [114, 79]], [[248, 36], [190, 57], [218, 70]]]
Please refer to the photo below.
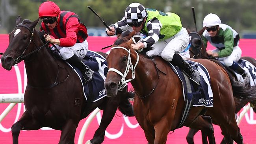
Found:
[[67, 120], [65, 126], [62, 127], [59, 144], [74, 144], [76, 127], [78, 122], [74, 120]]

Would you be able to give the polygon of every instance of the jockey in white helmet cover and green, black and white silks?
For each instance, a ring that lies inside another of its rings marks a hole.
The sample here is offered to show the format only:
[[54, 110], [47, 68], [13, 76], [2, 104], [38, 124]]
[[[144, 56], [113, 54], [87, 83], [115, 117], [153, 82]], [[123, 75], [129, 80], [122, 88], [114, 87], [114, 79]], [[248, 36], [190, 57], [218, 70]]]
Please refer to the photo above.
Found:
[[239, 35], [226, 24], [222, 24], [220, 18], [215, 14], [208, 14], [204, 18], [203, 26], [206, 30], [202, 34], [202, 42], [207, 47], [209, 41], [215, 50], [207, 50], [208, 55], [223, 61], [224, 65], [243, 75], [245, 71], [239, 66], [237, 61], [241, 58], [242, 50], [238, 46]]

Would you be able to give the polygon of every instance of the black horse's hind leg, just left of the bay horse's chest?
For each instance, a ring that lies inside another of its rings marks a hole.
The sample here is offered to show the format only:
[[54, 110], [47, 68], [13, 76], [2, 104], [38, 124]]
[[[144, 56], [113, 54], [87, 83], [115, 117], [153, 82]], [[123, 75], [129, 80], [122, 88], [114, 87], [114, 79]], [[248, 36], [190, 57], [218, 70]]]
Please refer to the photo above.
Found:
[[103, 110], [100, 126], [95, 131], [93, 139], [90, 140], [92, 144], [101, 144], [104, 141], [105, 131], [113, 120], [115, 112], [117, 111], [117, 103], [108, 102], [105, 109]]

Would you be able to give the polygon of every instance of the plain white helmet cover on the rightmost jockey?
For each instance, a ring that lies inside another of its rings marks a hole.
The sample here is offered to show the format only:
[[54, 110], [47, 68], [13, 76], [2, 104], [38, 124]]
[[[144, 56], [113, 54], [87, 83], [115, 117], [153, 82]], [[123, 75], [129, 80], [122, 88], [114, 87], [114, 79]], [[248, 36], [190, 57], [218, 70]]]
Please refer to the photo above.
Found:
[[203, 27], [217, 26], [219, 24], [221, 24], [221, 19], [213, 13], [210, 13], [204, 17]]

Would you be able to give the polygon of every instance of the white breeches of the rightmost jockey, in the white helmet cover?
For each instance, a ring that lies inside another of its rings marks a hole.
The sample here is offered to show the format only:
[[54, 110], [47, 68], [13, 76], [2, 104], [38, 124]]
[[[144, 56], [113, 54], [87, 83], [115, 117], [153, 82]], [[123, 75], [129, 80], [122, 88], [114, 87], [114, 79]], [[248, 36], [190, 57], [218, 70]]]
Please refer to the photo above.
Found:
[[[215, 49], [212, 52], [217, 53], [219, 52], [219, 49]], [[226, 66], [232, 66], [233, 61], [237, 62], [241, 58], [242, 50], [239, 46], [235, 46], [233, 48], [232, 53], [227, 57], [219, 57], [218, 61], [223, 61]]]

